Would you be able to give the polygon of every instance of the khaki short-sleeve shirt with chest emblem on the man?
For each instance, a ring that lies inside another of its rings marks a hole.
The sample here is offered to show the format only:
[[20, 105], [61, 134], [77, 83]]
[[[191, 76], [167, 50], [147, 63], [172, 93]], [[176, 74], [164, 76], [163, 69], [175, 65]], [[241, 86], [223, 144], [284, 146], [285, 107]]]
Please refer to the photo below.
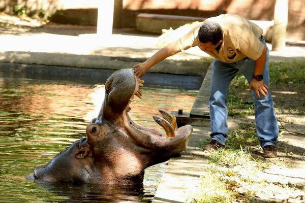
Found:
[[[210, 56], [223, 62], [236, 62], [245, 57], [256, 60], [262, 54], [264, 45], [260, 42], [263, 30], [255, 23], [246, 18], [223, 14], [206, 19], [206, 21], [217, 22], [223, 30], [223, 43], [219, 51], [205, 51]], [[198, 30], [202, 23], [178, 39], [176, 47], [184, 51], [190, 47], [199, 47]]]

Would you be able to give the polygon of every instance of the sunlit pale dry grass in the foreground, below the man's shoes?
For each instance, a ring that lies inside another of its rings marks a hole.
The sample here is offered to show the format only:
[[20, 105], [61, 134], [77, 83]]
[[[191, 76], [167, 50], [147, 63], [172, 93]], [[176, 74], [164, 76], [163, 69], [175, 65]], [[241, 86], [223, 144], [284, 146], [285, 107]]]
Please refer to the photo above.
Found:
[[252, 202], [265, 185], [261, 173], [267, 165], [249, 151], [219, 149], [210, 152], [209, 161], [192, 202]]

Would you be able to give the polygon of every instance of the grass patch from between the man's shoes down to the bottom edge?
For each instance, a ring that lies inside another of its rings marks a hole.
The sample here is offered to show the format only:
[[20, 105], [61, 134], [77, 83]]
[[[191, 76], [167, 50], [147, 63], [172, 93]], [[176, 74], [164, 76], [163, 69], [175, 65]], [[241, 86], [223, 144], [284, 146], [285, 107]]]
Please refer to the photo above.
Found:
[[[265, 183], [265, 180], [260, 179], [260, 173], [269, 166], [268, 163], [253, 158], [249, 148], [243, 149], [246, 145], [258, 145], [255, 129], [249, 124], [241, 126], [242, 128], [229, 132], [230, 139], [226, 148], [209, 153], [212, 166], [201, 177], [200, 189], [192, 202], [233, 202], [233, 199], [251, 202], [256, 195], [251, 188], [257, 188], [259, 184], [262, 187]], [[207, 142], [201, 141], [200, 147]], [[221, 188], [222, 192], [216, 192], [217, 188]]]

